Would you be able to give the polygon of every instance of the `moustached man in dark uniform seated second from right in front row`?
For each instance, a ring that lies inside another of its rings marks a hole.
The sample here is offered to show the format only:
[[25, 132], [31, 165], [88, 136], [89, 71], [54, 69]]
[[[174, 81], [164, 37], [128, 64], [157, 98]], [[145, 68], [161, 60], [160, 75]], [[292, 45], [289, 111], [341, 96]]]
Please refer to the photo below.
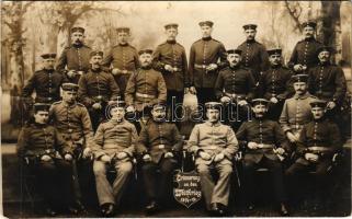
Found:
[[285, 206], [285, 192], [283, 184], [283, 168], [281, 159], [289, 151], [288, 141], [285, 138], [280, 125], [265, 118], [269, 101], [256, 99], [252, 101], [254, 118], [243, 123], [236, 136], [240, 142], [246, 143], [243, 159], [245, 192], [248, 200], [248, 208], [253, 209], [254, 198], [254, 170], [268, 168], [272, 174], [274, 195], [282, 216], [287, 216]]

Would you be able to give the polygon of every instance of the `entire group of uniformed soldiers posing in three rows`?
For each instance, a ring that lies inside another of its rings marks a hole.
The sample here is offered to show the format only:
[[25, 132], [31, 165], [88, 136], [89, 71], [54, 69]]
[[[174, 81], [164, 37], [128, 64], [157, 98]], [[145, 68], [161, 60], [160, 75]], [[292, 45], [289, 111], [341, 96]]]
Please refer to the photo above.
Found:
[[[114, 216], [135, 166], [140, 166], [146, 210], [155, 212], [168, 203], [182, 150], [194, 155], [206, 209], [215, 216], [228, 209], [234, 158], [240, 151], [249, 209], [254, 208], [259, 168], [270, 170], [283, 216], [288, 215], [284, 178], [292, 191], [300, 174], [316, 170], [316, 193], [328, 194], [329, 166], [342, 148], [337, 122], [347, 82], [330, 62], [332, 48], [315, 39], [316, 23], [303, 24], [304, 39], [288, 68], [282, 65], [282, 49], [266, 50], [256, 41], [256, 24], [243, 25], [246, 42], [228, 50], [212, 37], [213, 25], [200, 22], [202, 38], [191, 46], [189, 61], [175, 41], [174, 23], [164, 25], [167, 41], [155, 50], [137, 53], [128, 44], [129, 28], [120, 27], [118, 44], [104, 56], [84, 45], [84, 28], [73, 27], [56, 68], [56, 54], [42, 55], [43, 70], [22, 91], [26, 103], [33, 103], [34, 90], [36, 99], [18, 151], [37, 176], [49, 216], [63, 205], [84, 210], [91, 170], [101, 212]], [[185, 93], [198, 103], [186, 145], [179, 132]], [[284, 159], [291, 160], [286, 170]], [[116, 174], [112, 184], [111, 169]]]

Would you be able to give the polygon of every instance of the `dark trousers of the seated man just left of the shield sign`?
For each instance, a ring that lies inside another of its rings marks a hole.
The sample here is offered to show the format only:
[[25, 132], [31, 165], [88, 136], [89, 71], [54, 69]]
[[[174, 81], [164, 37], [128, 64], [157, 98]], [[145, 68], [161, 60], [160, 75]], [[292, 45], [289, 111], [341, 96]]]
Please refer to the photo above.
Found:
[[[177, 168], [177, 160], [162, 158], [159, 163], [146, 162], [141, 166], [141, 174], [148, 200], [158, 199], [161, 204], [168, 200], [172, 173]], [[159, 175], [158, 171], [159, 170]]]

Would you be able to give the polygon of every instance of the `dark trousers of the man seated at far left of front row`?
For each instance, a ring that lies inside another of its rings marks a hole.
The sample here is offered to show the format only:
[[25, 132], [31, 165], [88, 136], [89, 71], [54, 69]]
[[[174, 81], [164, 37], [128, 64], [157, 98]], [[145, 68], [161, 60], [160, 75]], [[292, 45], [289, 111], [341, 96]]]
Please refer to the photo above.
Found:
[[63, 159], [52, 161], [39, 161], [30, 159], [30, 172], [35, 175], [35, 188], [44, 197], [48, 206], [58, 204], [75, 204], [72, 195], [72, 166], [71, 163]]

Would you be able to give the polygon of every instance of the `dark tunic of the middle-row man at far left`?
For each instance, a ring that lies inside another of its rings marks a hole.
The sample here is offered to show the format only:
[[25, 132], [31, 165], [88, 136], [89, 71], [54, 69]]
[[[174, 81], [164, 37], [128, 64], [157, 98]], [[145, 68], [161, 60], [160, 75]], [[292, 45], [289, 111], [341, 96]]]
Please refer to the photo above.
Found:
[[[33, 91], [36, 92], [36, 103], [54, 103], [60, 100], [60, 85], [65, 82], [65, 78], [56, 70], [38, 70], [29, 80], [22, 90], [22, 97], [29, 100]], [[32, 102], [32, 101], [29, 101]]]

